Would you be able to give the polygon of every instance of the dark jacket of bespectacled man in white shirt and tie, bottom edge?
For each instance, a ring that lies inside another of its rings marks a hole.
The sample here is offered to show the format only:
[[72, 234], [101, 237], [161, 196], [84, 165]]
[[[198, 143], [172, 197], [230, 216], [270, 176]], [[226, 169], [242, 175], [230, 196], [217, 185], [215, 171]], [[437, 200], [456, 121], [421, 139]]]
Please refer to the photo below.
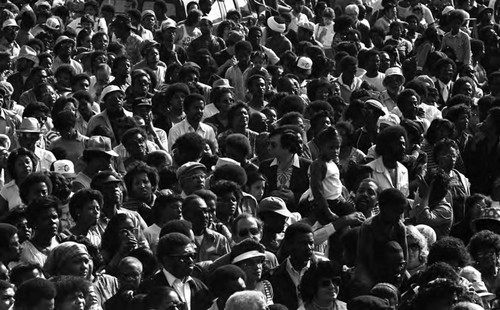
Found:
[[[210, 308], [213, 299], [207, 286], [197, 278], [191, 278], [192, 280], [189, 281], [189, 287], [191, 288], [191, 310], [206, 310]], [[160, 286], [170, 287], [163, 273], [163, 269], [156, 272], [151, 278], [145, 280], [139, 288], [139, 291], [147, 293], [151, 291], [151, 289]]]

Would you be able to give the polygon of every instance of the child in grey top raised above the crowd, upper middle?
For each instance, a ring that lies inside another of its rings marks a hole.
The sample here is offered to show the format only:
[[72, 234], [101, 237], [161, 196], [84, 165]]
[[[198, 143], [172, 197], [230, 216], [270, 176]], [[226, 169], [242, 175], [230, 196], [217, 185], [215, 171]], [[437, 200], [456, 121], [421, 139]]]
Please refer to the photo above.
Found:
[[252, 54], [252, 44], [248, 41], [240, 41], [234, 46], [234, 53], [238, 63], [231, 66], [226, 71], [225, 78], [234, 87], [236, 100], [245, 100], [245, 80], [243, 72], [250, 67], [250, 55]]

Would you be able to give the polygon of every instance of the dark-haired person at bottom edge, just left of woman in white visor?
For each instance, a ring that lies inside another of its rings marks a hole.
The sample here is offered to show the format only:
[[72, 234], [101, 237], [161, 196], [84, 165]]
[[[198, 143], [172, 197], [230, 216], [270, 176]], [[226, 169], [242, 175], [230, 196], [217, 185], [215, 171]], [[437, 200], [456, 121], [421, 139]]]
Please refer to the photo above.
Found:
[[224, 309], [231, 295], [246, 289], [245, 281], [245, 272], [237, 266], [225, 265], [215, 269], [209, 278], [209, 287], [217, 299], [209, 310]]

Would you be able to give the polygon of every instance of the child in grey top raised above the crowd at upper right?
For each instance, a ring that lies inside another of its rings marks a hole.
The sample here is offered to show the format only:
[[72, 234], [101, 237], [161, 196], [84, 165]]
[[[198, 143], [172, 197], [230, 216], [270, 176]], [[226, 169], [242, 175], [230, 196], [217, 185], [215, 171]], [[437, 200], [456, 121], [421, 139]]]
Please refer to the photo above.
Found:
[[465, 22], [465, 16], [460, 10], [453, 10], [448, 15], [448, 23], [451, 26], [450, 32], [447, 32], [443, 37], [443, 44], [441, 51], [446, 51], [446, 49], [451, 49], [456, 59], [455, 61], [457, 68], [463, 65], [471, 64], [471, 47], [470, 47], [470, 37], [465, 33], [460, 27]]

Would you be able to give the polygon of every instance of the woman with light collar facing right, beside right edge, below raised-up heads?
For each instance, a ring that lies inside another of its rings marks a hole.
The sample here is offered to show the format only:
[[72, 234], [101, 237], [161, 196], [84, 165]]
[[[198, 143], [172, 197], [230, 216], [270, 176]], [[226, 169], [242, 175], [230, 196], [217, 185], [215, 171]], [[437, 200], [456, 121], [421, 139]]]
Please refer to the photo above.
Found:
[[457, 143], [451, 139], [443, 139], [436, 143], [432, 150], [434, 161], [438, 167], [443, 169], [450, 177], [450, 192], [453, 205], [453, 221], [458, 223], [465, 216], [465, 200], [470, 196], [470, 182], [458, 170], [455, 169], [460, 150]]

